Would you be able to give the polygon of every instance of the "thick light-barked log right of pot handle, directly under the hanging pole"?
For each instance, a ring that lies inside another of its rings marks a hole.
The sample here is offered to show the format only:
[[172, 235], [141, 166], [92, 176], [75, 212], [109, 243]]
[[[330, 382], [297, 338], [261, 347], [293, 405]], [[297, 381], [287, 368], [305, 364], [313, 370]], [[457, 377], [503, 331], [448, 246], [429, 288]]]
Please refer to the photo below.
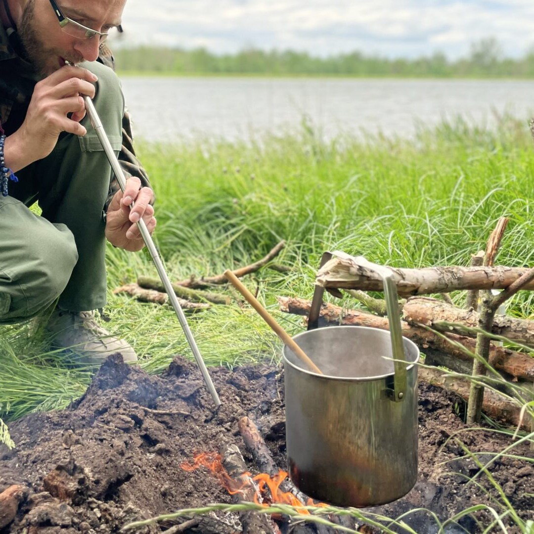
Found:
[[[409, 323], [427, 325], [441, 332], [462, 333], [461, 328], [445, 326], [441, 324], [443, 321], [461, 323], [470, 328], [478, 327], [479, 314], [476, 311], [456, 308], [429, 297], [409, 299], [403, 307], [403, 312]], [[534, 321], [497, 315], [493, 319], [491, 332], [534, 347]]]

